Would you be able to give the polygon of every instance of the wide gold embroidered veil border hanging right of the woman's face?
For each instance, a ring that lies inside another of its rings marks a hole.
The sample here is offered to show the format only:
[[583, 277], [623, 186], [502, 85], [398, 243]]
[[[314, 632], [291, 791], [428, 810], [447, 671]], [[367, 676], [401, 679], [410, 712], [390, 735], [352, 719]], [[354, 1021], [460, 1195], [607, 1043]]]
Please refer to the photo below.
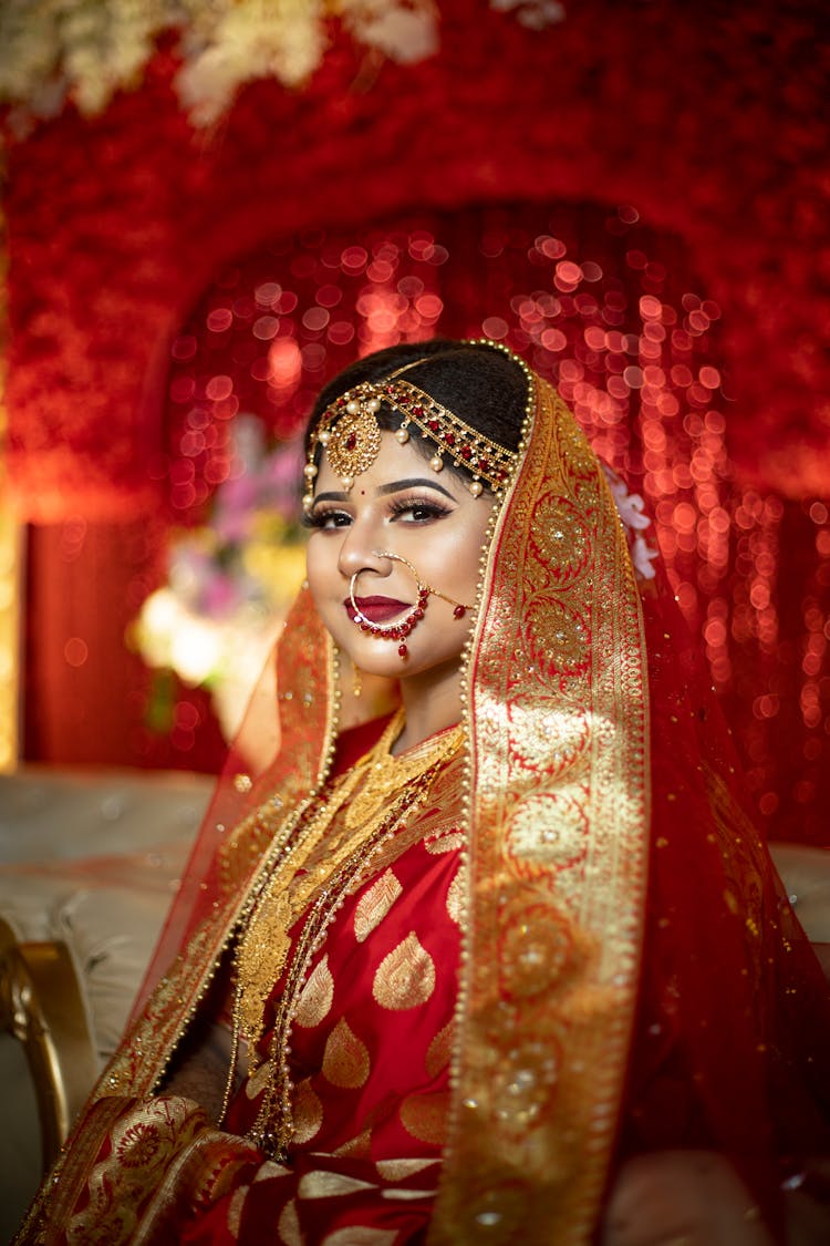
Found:
[[541, 383], [473, 653], [467, 956], [429, 1241], [587, 1242], [640, 968], [645, 640], [613, 501]]

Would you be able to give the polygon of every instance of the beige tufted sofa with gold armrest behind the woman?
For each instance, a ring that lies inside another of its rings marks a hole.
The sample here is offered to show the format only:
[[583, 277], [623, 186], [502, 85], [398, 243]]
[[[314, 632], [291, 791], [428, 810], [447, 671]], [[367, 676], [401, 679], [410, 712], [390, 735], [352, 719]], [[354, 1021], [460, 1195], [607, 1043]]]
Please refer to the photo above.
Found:
[[[210, 789], [184, 774], [0, 775], [0, 1241], [118, 1042]], [[830, 852], [774, 856], [830, 974]]]

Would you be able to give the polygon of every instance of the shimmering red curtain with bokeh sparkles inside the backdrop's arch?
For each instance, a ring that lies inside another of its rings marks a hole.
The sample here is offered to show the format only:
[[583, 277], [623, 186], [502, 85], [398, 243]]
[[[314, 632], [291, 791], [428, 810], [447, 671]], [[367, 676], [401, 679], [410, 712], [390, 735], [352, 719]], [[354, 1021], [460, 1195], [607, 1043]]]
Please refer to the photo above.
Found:
[[[733, 480], [719, 321], [682, 245], [630, 204], [482, 208], [463, 214], [463, 229], [457, 216], [421, 213], [358, 234], [279, 239], [223, 272], [182, 325], [158, 473], [175, 522], [202, 522], [231, 471], [238, 414], [290, 441], [321, 385], [356, 355], [437, 334], [506, 343], [557, 385], [596, 451], [645, 496], [762, 809], [798, 806], [808, 826], [795, 837], [818, 836], [830, 511]], [[804, 525], [815, 530], [810, 561], [783, 568]], [[798, 765], [778, 755], [783, 731], [801, 741]]]

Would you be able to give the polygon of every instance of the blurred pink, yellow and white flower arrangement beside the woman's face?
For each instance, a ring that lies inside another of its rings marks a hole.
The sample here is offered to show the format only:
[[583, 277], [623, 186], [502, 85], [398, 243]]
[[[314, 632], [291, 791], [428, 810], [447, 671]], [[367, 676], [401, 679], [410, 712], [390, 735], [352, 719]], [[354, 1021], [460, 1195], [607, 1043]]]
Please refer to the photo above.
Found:
[[269, 449], [260, 421], [238, 416], [233, 470], [209, 520], [174, 536], [168, 581], [131, 630], [149, 667], [210, 690], [226, 738], [305, 576], [304, 461], [297, 441]]

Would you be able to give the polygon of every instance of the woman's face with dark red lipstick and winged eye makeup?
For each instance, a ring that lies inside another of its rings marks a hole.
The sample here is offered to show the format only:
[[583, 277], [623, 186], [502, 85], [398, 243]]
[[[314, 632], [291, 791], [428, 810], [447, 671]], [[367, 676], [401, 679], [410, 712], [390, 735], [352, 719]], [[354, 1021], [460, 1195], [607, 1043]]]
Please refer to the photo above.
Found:
[[324, 452], [309, 515], [309, 584], [337, 648], [356, 667], [394, 678], [458, 668], [469, 612], [458, 618], [452, 602], [431, 594], [402, 659], [399, 639], [371, 635], [353, 621], [350, 584], [357, 573], [355, 599], [372, 623], [401, 623], [417, 606], [418, 588], [406, 563], [385, 557], [389, 552], [411, 562], [422, 582], [472, 606], [492, 508], [489, 491], [473, 497], [463, 480], [433, 472], [411, 444], [399, 445], [391, 432], [382, 434], [377, 459], [348, 493]]

